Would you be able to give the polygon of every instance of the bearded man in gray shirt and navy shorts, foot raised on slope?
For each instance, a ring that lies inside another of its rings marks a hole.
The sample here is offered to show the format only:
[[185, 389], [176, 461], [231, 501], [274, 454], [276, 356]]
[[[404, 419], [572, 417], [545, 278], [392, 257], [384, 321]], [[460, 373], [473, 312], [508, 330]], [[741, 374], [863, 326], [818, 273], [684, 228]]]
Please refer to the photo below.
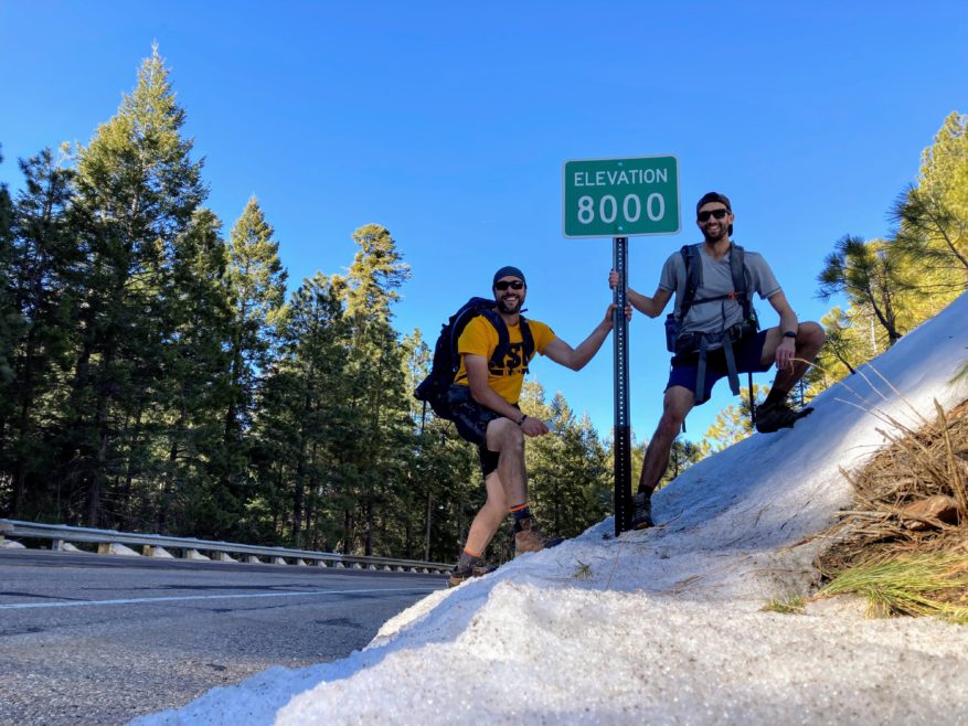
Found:
[[[652, 526], [650, 498], [669, 466], [672, 441], [692, 407], [708, 401], [715, 382], [725, 377], [731, 367], [734, 373], [755, 373], [768, 371], [776, 363], [773, 387], [756, 408], [756, 429], [766, 434], [793, 427], [809, 410], [794, 410], [786, 403], [787, 395], [807, 372], [825, 340], [819, 324], [797, 321], [766, 260], [756, 253], [734, 249], [730, 235], [735, 217], [724, 194], [704, 194], [695, 205], [695, 214], [704, 241], [688, 248], [688, 254], [692, 255], [690, 265], [700, 266], [698, 282], [695, 278], [687, 279], [685, 259], [682, 253], [676, 252], [666, 260], [652, 297], [628, 289], [629, 302], [650, 318], [662, 313], [674, 292], [673, 316], [678, 324], [662, 418], [646, 450], [638, 493], [634, 498], [632, 527], [636, 530]], [[756, 292], [760, 299], [768, 300], [779, 314], [779, 325], [757, 332], [746, 319], [734, 285], [734, 274], [740, 273], [731, 267], [733, 255], [740, 254], [743, 255], [746, 297]], [[613, 287], [618, 284], [614, 271], [609, 284]], [[695, 286], [691, 298], [690, 285]], [[684, 313], [683, 307], [687, 308]]]

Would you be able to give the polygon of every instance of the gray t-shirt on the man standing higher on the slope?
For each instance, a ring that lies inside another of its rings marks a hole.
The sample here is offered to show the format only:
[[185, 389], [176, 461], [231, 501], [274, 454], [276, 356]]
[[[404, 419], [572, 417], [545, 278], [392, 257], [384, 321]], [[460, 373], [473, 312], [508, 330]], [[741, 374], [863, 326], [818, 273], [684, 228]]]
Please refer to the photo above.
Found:
[[[704, 246], [699, 247], [699, 257], [702, 260], [702, 276], [700, 277], [699, 290], [695, 299], [716, 298], [733, 291], [733, 275], [730, 271], [730, 256], [732, 248], [722, 259], [714, 260], [705, 252]], [[773, 276], [769, 265], [763, 256], [755, 252], [744, 249], [746, 267], [746, 289], [752, 297], [759, 293], [759, 299], [779, 292], [779, 282]], [[659, 277], [659, 289], [676, 293], [676, 319], [679, 321], [681, 333], [715, 333], [743, 321], [743, 308], [736, 300], [712, 300], [710, 302], [696, 302], [689, 309], [685, 320], [682, 320], [681, 303], [685, 297], [685, 260], [677, 250], [669, 255], [669, 259], [662, 266], [662, 275]], [[716, 348], [712, 345], [711, 348]]]

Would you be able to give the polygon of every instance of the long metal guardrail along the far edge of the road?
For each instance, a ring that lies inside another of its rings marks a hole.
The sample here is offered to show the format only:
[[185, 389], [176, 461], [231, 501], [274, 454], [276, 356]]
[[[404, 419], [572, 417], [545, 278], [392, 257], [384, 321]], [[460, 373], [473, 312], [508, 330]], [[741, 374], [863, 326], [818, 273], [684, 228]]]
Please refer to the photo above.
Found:
[[[190, 537], [169, 537], [161, 534], [134, 534], [115, 530], [92, 530], [60, 524], [19, 522], [17, 520], [0, 520], [0, 545], [2, 545], [4, 537], [50, 540], [51, 549], [64, 549], [65, 544], [72, 542], [94, 543], [98, 545], [100, 554], [121, 554], [115, 545], [134, 545], [142, 547], [142, 555], [147, 557], [172, 557], [173, 555], [168, 552], [172, 549], [180, 551], [184, 559], [212, 559], [214, 557], [221, 562], [240, 562], [233, 557], [233, 555], [238, 555], [244, 558], [243, 562], [262, 563], [263, 560], [259, 558], [265, 557], [269, 563], [276, 565], [312, 564], [319, 567], [352, 567], [407, 573], [447, 573], [451, 568], [451, 565], [446, 563], [392, 557], [361, 557], [333, 552], [265, 547]], [[202, 553], [210, 553], [213, 557]]]

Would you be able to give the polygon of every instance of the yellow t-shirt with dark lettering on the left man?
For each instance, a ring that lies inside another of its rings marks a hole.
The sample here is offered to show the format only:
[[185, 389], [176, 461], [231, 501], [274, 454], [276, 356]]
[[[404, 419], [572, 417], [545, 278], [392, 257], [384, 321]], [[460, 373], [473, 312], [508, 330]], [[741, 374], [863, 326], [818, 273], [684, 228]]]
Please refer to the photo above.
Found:
[[491, 364], [491, 355], [498, 346], [498, 331], [491, 324], [490, 320], [483, 316], [478, 316], [464, 329], [460, 338], [457, 340], [457, 352], [460, 353], [460, 369], [454, 376], [454, 383], [466, 386], [467, 367], [464, 363], [466, 354], [482, 355], [488, 361], [488, 385], [494, 393], [509, 404], [514, 405], [521, 396], [521, 388], [524, 385], [524, 374], [528, 373], [528, 364], [534, 359], [536, 353], [544, 355], [544, 349], [551, 341], [555, 339], [555, 334], [551, 328], [543, 322], [528, 319], [528, 328], [531, 330], [531, 337], [534, 339], [534, 352], [526, 361], [524, 357], [524, 341], [521, 337], [521, 325], [508, 325], [508, 341], [510, 346], [504, 360], [500, 365]]

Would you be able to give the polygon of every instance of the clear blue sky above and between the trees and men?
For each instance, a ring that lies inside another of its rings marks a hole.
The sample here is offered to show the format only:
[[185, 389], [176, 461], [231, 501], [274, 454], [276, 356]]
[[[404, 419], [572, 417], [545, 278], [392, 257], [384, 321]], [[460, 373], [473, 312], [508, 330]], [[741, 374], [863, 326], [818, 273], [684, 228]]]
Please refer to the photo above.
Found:
[[[679, 158], [682, 232], [629, 241], [631, 286], [651, 293], [666, 257], [699, 239], [694, 200], [715, 189], [734, 239], [819, 319], [825, 255], [843, 234], [887, 234], [922, 150], [968, 111], [966, 31], [954, 1], [7, 0], [0, 180], [17, 190], [18, 157], [86, 143], [157, 40], [226, 232], [255, 194], [297, 286], [347, 267], [353, 229], [385, 225], [413, 268], [402, 332], [433, 342], [513, 264], [530, 314], [577, 345], [611, 299], [611, 241], [562, 237], [562, 164], [655, 154]], [[632, 320], [630, 362], [641, 440], [668, 371], [661, 320]], [[531, 367], [609, 431], [610, 341], [581, 373]], [[732, 401], [721, 382], [688, 436]]]

